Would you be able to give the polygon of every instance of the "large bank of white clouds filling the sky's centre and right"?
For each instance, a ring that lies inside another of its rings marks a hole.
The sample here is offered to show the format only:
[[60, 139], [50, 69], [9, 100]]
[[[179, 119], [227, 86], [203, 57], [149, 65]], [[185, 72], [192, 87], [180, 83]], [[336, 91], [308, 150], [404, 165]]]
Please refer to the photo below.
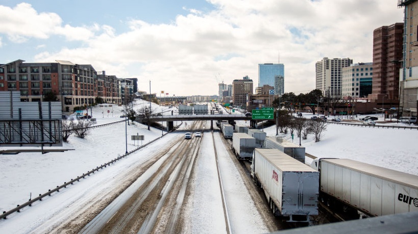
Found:
[[226, 83], [249, 75], [257, 86], [258, 64], [278, 63], [280, 52], [285, 92], [299, 94], [315, 88], [315, 62], [325, 56], [372, 62], [373, 30], [403, 18], [392, 0], [210, 3], [217, 9], [190, 10], [170, 24], [131, 20], [130, 31], [121, 34], [106, 25], [71, 27], [72, 34], [86, 34], [73, 38], [85, 40], [84, 48], [65, 48], [38, 58], [65, 58], [118, 77], [137, 77], [142, 90], [151, 79], [153, 93], [211, 95], [217, 94], [218, 73]]

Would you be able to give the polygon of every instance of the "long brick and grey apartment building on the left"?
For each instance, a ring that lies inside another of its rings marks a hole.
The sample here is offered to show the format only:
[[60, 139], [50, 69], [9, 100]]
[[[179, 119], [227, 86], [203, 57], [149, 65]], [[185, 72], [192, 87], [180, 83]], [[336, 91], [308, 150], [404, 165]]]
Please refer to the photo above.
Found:
[[[92, 105], [96, 97], [107, 103], [121, 104], [122, 86], [133, 94], [132, 80], [107, 76], [91, 65], [56, 63], [24, 63], [16, 60], [0, 65], [0, 91], [19, 91], [21, 101], [42, 101], [43, 95], [53, 93], [61, 101], [62, 111], [76, 106]], [[122, 85], [122, 82], [125, 84]], [[132, 90], [132, 91], [131, 91]]]

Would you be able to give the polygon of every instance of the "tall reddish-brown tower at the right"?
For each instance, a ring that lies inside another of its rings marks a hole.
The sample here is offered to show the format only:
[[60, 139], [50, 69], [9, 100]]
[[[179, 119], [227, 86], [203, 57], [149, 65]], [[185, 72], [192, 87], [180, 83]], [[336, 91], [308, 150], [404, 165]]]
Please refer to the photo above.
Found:
[[373, 31], [373, 90], [368, 95], [370, 100], [386, 103], [399, 100], [403, 30], [403, 23], [395, 23]]

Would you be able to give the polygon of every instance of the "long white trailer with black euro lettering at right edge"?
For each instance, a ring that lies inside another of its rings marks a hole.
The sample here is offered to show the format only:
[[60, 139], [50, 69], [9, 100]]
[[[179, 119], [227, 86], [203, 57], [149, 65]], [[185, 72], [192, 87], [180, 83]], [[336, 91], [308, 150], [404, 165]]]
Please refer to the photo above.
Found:
[[351, 159], [314, 159], [321, 201], [330, 207], [382, 216], [418, 211], [418, 176]]

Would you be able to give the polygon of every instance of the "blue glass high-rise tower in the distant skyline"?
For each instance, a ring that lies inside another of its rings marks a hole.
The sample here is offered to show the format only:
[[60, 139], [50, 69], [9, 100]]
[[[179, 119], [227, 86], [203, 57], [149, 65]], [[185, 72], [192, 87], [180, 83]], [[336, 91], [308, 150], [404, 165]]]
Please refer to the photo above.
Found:
[[282, 77], [283, 84], [278, 86], [278, 90], [284, 90], [284, 65], [283, 64], [259, 64], [258, 65], [258, 86], [262, 87], [263, 85], [270, 85], [275, 87], [275, 95], [279, 94], [279, 91], [276, 91], [276, 77]]

